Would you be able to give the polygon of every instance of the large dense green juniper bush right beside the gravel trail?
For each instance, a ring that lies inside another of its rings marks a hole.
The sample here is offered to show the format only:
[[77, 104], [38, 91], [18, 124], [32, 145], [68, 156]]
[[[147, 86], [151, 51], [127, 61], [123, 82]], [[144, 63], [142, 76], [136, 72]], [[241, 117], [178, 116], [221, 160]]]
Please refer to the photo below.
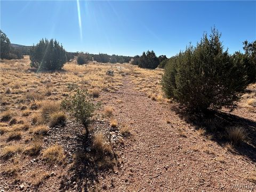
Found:
[[244, 63], [223, 51], [215, 28], [209, 37], [204, 34], [196, 47], [190, 45], [170, 59], [162, 78], [167, 98], [191, 110], [233, 108], [246, 85]]

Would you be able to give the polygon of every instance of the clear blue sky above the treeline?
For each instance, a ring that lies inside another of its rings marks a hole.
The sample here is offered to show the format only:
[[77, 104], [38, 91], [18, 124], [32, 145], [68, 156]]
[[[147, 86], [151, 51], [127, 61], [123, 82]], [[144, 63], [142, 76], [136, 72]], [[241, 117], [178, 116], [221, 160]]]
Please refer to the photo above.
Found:
[[171, 57], [214, 25], [230, 53], [242, 51], [245, 39], [256, 40], [256, 2], [1, 1], [1, 29], [11, 43], [54, 38], [74, 52], [133, 56], [154, 50]]

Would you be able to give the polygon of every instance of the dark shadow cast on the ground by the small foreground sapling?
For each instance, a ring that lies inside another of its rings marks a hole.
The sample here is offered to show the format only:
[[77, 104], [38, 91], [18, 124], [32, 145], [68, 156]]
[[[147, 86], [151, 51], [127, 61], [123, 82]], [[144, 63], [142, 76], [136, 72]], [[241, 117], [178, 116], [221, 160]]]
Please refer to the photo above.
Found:
[[[79, 135], [77, 150], [73, 155], [74, 162], [68, 171], [69, 175], [62, 177], [60, 191], [98, 191], [106, 186], [97, 187], [99, 177], [104, 173], [114, 172], [118, 165], [114, 151], [94, 149], [92, 138]], [[100, 189], [99, 189], [100, 188]]]

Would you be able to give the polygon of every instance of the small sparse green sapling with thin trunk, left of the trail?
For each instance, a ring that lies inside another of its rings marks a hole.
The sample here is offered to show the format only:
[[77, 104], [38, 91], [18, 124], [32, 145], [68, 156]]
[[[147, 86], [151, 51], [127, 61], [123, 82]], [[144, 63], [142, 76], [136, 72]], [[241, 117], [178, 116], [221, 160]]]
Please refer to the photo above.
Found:
[[85, 137], [87, 138], [89, 135], [88, 126], [91, 122], [95, 105], [87, 101], [86, 92], [78, 89], [73, 97], [61, 102], [61, 107], [70, 111], [71, 114], [84, 125], [86, 130]]

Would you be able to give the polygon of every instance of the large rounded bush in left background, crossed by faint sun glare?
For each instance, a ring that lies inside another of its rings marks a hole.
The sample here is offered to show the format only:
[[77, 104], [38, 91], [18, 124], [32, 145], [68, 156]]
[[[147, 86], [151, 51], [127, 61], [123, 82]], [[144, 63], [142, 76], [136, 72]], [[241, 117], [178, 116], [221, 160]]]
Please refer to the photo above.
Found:
[[42, 39], [30, 49], [30, 66], [38, 70], [60, 70], [67, 61], [63, 46], [56, 40]]

